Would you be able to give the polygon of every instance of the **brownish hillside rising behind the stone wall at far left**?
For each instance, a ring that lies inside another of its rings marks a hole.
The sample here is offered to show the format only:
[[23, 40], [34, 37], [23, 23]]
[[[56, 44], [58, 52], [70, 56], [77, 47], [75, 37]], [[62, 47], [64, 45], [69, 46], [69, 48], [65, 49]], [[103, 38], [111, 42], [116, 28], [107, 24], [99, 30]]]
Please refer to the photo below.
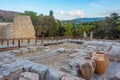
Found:
[[13, 18], [17, 14], [20, 14], [20, 12], [0, 10], [0, 17], [4, 19]]

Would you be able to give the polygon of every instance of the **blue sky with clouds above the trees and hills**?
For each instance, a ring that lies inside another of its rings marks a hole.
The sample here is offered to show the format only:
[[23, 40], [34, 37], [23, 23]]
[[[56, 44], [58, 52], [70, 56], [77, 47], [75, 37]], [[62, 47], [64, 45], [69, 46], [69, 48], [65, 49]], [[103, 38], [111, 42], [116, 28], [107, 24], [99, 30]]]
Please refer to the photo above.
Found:
[[120, 0], [0, 0], [0, 9], [34, 11], [38, 15], [49, 15], [52, 10], [56, 19], [70, 20], [105, 17], [112, 12], [120, 13]]

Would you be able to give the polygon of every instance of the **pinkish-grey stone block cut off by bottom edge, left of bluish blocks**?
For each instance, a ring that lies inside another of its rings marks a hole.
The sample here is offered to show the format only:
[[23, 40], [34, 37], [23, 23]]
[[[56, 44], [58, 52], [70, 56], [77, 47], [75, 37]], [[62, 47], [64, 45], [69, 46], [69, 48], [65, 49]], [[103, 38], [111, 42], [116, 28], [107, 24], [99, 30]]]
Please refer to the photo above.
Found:
[[19, 80], [39, 80], [39, 75], [30, 72], [23, 72], [20, 74]]

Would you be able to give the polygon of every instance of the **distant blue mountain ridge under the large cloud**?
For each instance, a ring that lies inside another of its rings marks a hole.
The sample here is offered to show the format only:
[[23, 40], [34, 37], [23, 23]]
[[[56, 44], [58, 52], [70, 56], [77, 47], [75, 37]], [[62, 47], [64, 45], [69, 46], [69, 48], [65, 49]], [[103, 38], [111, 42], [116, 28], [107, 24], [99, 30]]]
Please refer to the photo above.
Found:
[[105, 18], [77, 18], [77, 19], [72, 19], [72, 20], [64, 20], [64, 22], [70, 21], [72, 23], [80, 23], [80, 22], [94, 22], [94, 21], [100, 21], [104, 20]]

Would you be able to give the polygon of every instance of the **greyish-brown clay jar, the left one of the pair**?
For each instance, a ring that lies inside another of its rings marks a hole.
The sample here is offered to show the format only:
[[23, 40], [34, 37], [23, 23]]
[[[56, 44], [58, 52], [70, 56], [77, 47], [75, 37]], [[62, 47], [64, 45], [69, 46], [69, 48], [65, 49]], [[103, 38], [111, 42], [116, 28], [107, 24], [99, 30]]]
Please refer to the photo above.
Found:
[[79, 66], [83, 78], [90, 80], [95, 71], [95, 61], [91, 57], [84, 57]]

